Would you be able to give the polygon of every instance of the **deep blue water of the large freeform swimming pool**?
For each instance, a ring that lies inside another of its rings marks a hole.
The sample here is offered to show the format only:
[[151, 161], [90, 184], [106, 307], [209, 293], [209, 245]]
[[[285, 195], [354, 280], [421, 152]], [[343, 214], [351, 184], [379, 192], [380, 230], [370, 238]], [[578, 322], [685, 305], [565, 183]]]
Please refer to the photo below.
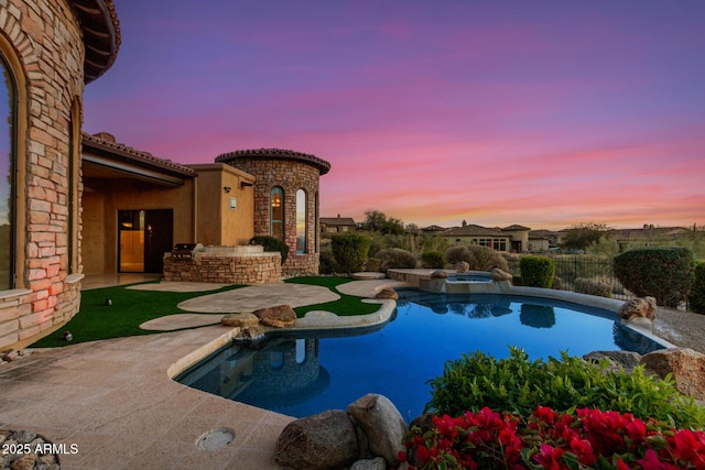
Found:
[[345, 409], [367, 393], [379, 393], [411, 420], [429, 402], [426, 382], [464, 353], [480, 350], [506, 358], [509, 346], [519, 346], [531, 359], [546, 359], [561, 351], [583, 356], [661, 348], [606, 310], [529, 297], [420, 291], [400, 291], [395, 316], [386, 326], [345, 335], [283, 335], [252, 347], [232, 345], [176, 380], [295, 417]]

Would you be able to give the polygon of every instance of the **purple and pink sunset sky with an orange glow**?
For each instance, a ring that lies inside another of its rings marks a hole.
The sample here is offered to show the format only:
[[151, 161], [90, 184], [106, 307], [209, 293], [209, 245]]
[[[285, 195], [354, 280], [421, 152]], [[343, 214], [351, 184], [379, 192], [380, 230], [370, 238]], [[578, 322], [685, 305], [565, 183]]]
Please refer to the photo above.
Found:
[[87, 132], [315, 154], [323, 217], [705, 225], [705, 1], [115, 3]]

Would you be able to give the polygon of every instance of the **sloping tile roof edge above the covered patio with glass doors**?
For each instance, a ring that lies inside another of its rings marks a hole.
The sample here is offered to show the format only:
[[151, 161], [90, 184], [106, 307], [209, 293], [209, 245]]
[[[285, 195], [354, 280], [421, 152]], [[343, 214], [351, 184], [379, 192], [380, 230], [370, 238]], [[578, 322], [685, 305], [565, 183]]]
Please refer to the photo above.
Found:
[[140, 166], [155, 167], [170, 173], [176, 173], [186, 176], [195, 176], [196, 171], [188, 166], [180, 165], [171, 160], [159, 159], [149, 152], [142, 152], [131, 146], [118, 143], [115, 136], [107, 132], [89, 134], [82, 132], [82, 143], [85, 150], [91, 150], [112, 160], [124, 161]]

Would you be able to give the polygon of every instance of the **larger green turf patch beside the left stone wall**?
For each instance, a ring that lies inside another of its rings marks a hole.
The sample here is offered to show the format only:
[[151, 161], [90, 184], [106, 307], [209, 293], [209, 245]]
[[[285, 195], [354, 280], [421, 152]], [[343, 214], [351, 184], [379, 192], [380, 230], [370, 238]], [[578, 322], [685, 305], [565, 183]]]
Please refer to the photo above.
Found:
[[[126, 287], [121, 285], [83, 291], [80, 293], [80, 310], [78, 314], [63, 328], [40, 339], [32, 347], [56, 348], [66, 346], [68, 345], [64, 340], [64, 331], [66, 330], [74, 335], [73, 343], [162, 332], [143, 330], [140, 325], [154, 318], [187, 313], [176, 307], [181, 302], [242, 286], [232, 285], [206, 293], [134, 291]], [[106, 305], [107, 298], [112, 300], [112, 305]]]

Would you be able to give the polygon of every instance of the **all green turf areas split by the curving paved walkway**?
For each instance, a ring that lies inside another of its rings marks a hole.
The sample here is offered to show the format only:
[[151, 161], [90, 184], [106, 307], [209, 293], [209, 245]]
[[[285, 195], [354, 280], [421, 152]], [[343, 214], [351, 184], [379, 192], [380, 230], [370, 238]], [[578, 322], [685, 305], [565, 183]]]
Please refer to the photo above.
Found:
[[[294, 309], [297, 317], [303, 317], [311, 310], [327, 310], [340, 316], [366, 315], [377, 311], [379, 305], [362, 303], [360, 297], [341, 294], [336, 286], [350, 282], [346, 277], [330, 276], [304, 276], [286, 280], [288, 283], [319, 285], [335, 291], [340, 298], [325, 304], [307, 305]], [[158, 281], [151, 281], [158, 282]], [[186, 314], [177, 307], [181, 302], [203, 295], [216, 294], [243, 285], [231, 285], [207, 292], [162, 292], [162, 291], [135, 291], [128, 286], [115, 286], [83, 291], [80, 294], [80, 310], [63, 328], [40, 339], [32, 345], [33, 348], [56, 348], [68, 345], [64, 340], [64, 331], [69, 330], [74, 335], [72, 343], [95, 341], [99, 339], [121, 338], [137, 335], [154, 335], [163, 331], [143, 330], [140, 328], [144, 321], [167, 315]], [[112, 305], [106, 305], [106, 299]], [[220, 315], [223, 314], [202, 314]]]

